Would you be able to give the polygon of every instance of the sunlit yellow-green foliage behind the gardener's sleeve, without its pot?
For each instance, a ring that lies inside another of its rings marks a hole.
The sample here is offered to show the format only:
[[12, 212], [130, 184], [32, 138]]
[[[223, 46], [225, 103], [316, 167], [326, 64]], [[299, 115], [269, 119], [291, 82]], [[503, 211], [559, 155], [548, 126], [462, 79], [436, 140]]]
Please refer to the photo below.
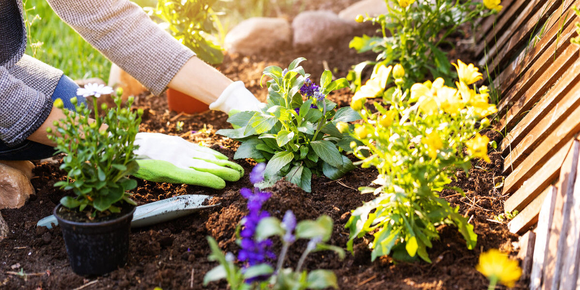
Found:
[[219, 0], [159, 0], [156, 8], [143, 8], [164, 21], [166, 29], [197, 57], [210, 64], [223, 61], [222, 47], [212, 40], [219, 32], [218, 14], [212, 7]]

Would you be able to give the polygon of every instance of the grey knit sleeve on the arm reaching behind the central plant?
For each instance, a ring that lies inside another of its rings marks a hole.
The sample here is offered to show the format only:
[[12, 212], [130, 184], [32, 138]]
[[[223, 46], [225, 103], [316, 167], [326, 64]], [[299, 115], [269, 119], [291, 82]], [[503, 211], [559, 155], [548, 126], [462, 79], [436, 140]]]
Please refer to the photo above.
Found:
[[195, 55], [128, 0], [47, 1], [63, 21], [155, 95]]

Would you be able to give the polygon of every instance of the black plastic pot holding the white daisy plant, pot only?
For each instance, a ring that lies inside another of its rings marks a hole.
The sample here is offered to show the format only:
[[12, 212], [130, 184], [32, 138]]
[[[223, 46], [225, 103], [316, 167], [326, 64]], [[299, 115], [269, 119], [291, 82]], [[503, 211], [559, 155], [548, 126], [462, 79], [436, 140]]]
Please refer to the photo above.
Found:
[[80, 276], [100, 276], [127, 263], [129, 234], [135, 207], [118, 218], [104, 222], [72, 222], [54, 215], [63, 231], [64, 245], [74, 273]]

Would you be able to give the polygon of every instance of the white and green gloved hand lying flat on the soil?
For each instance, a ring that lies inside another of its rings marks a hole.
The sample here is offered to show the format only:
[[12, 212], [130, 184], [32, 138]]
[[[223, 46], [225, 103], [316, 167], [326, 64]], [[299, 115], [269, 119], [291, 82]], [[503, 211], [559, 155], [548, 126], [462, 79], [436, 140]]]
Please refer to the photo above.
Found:
[[153, 182], [184, 183], [223, 189], [226, 181], [244, 176], [242, 166], [226, 155], [179, 136], [137, 133], [135, 144], [139, 170], [133, 174]]

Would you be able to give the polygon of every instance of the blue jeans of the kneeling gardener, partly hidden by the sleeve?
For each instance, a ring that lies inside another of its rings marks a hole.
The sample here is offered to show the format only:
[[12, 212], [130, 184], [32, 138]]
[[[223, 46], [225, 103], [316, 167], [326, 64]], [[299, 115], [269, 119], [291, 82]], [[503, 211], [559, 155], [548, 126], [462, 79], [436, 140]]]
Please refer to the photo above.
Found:
[[[74, 105], [70, 101], [72, 97], [76, 96], [79, 104], [86, 104], [84, 97], [77, 96], [77, 89], [78, 85], [72, 79], [63, 75], [56, 85], [55, 92], [52, 93], [52, 101], [61, 99], [63, 100], [65, 108], [75, 110]], [[25, 140], [23, 143], [14, 147], [8, 147], [0, 140], [0, 160], [39, 160], [52, 157], [55, 152], [54, 147], [30, 140]]]

